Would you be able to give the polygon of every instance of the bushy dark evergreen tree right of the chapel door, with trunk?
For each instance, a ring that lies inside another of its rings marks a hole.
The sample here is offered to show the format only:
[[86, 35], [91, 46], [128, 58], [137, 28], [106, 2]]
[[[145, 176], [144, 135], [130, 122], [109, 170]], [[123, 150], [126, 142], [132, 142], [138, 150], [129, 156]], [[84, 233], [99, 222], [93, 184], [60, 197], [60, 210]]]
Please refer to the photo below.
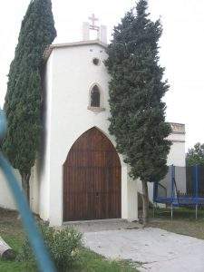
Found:
[[110, 132], [117, 150], [131, 166], [130, 175], [142, 183], [143, 222], [148, 219], [148, 181], [167, 172], [170, 125], [165, 122], [168, 91], [159, 64], [160, 20], [151, 22], [148, 3], [140, 0], [113, 31], [105, 62], [111, 75]]

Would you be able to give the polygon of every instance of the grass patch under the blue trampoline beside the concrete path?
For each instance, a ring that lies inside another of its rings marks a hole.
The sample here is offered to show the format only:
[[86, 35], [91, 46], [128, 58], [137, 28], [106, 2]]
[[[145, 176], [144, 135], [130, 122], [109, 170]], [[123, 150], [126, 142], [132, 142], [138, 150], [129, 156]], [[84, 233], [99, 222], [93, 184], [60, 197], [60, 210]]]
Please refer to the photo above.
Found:
[[[152, 216], [152, 211], [150, 212]], [[204, 209], [198, 210], [195, 219], [195, 209], [174, 208], [173, 219], [170, 219], [170, 209], [156, 209], [155, 218], [151, 217], [148, 227], [163, 228], [171, 232], [204, 239]]]

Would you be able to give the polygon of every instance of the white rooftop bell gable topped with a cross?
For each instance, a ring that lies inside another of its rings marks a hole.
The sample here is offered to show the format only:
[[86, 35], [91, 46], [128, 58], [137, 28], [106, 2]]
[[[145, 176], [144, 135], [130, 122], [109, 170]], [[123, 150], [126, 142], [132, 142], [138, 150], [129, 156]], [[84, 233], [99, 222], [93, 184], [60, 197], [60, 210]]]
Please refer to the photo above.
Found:
[[106, 25], [96, 25], [95, 22], [99, 21], [98, 18], [95, 17], [94, 14], [92, 14], [91, 17], [89, 17], [89, 22], [83, 23], [83, 41], [89, 41], [90, 40], [90, 33], [91, 31], [96, 32], [96, 40], [99, 40], [103, 44], [107, 44], [107, 27]]

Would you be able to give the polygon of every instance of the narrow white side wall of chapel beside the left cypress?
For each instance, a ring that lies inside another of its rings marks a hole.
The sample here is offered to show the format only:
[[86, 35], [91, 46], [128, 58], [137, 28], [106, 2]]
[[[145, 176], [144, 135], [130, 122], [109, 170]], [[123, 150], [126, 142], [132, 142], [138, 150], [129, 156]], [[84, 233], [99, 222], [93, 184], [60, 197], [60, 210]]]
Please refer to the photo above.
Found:
[[[38, 211], [42, 219], [48, 220], [50, 214], [50, 174], [51, 174], [51, 123], [53, 116], [53, 54], [49, 57], [44, 71], [44, 128], [42, 136], [42, 148], [39, 160], [36, 164], [34, 180], [38, 182], [39, 201]], [[60, 108], [60, 105], [59, 105]], [[54, 144], [57, 144], [56, 141]]]

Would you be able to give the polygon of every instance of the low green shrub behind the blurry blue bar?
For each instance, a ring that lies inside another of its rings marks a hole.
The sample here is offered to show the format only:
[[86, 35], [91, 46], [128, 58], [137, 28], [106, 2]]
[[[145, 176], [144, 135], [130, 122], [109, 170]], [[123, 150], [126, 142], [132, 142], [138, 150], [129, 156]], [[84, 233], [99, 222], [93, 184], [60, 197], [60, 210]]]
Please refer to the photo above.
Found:
[[[82, 248], [82, 233], [73, 228], [55, 230], [45, 224], [40, 225], [44, 243], [50, 252], [58, 271], [66, 271], [73, 263], [79, 260]], [[27, 263], [35, 263], [32, 248], [26, 238], [18, 257]]]

